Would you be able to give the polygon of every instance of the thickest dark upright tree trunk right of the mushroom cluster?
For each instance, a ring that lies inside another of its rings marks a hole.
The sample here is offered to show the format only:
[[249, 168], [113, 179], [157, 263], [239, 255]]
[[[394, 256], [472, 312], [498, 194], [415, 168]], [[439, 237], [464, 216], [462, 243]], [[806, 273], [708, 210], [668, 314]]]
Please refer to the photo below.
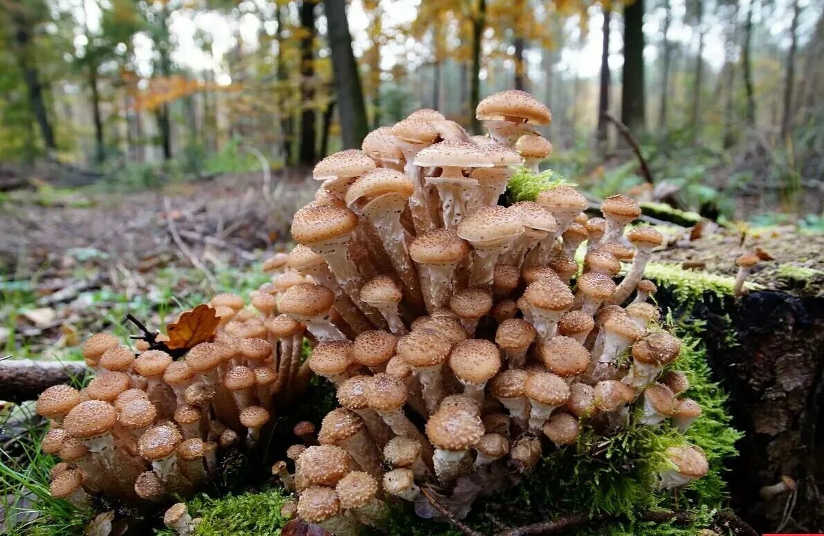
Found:
[[644, 130], [644, 0], [624, 8], [624, 72], [621, 121], [638, 135]]

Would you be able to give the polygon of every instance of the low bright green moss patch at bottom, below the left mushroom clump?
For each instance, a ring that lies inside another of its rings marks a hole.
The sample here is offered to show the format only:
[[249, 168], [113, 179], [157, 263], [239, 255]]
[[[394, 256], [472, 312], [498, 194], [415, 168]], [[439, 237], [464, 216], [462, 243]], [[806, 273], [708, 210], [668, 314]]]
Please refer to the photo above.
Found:
[[[193, 518], [200, 518], [194, 534], [201, 536], [277, 536], [286, 520], [280, 515], [281, 507], [291, 496], [279, 488], [265, 492], [228, 495], [214, 499], [206, 495], [196, 496], [187, 503]], [[175, 536], [175, 532], [162, 529], [156, 534]]]

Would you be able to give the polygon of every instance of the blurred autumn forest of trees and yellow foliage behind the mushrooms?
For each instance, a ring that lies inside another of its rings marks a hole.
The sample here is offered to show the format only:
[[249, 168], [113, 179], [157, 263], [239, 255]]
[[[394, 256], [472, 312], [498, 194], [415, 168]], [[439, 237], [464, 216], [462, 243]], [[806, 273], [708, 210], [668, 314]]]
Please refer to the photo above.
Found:
[[820, 227], [822, 58], [821, 0], [0, 0], [0, 186], [268, 174], [514, 87], [596, 195]]

